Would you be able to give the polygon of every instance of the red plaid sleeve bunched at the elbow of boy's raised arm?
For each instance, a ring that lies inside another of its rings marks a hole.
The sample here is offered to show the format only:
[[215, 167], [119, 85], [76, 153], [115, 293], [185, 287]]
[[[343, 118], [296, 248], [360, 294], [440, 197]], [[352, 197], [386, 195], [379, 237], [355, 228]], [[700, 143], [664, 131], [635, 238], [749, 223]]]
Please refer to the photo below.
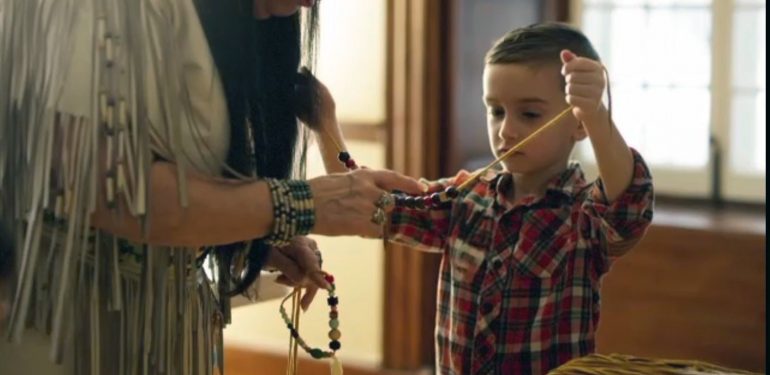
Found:
[[652, 176], [644, 159], [631, 149], [634, 172], [631, 184], [614, 201], [608, 202], [604, 184], [597, 179], [582, 204], [590, 229], [594, 231], [606, 255], [625, 254], [642, 239], [652, 222], [654, 194]]

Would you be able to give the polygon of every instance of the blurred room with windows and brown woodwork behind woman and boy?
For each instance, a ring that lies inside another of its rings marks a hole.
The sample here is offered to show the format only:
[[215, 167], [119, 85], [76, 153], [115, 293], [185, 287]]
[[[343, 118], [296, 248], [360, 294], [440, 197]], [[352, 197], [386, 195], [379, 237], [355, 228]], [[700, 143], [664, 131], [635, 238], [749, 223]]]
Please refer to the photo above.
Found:
[[[646, 238], [604, 279], [598, 351], [765, 371], [764, 0], [323, 0], [319, 78], [359, 165], [436, 178], [491, 161], [483, 57], [512, 28], [569, 22], [611, 79], [614, 119], [653, 172]], [[588, 142], [574, 158], [589, 175]], [[320, 175], [317, 149], [309, 175]], [[346, 374], [432, 373], [438, 258], [316, 237], [340, 296]], [[285, 372], [278, 300], [239, 307], [230, 374]], [[328, 341], [319, 294], [302, 316]], [[304, 353], [303, 353], [304, 354]], [[300, 373], [327, 365], [301, 356]]]

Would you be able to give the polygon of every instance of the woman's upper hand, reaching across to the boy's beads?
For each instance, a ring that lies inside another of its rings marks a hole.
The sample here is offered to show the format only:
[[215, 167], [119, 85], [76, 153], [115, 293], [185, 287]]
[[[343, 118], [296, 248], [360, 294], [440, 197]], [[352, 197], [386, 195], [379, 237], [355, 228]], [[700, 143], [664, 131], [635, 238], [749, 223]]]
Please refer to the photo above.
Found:
[[359, 169], [310, 181], [315, 203], [313, 233], [326, 236], [359, 235], [381, 238], [383, 227], [373, 221], [377, 201], [385, 193], [400, 190], [422, 194], [425, 186], [393, 171]]

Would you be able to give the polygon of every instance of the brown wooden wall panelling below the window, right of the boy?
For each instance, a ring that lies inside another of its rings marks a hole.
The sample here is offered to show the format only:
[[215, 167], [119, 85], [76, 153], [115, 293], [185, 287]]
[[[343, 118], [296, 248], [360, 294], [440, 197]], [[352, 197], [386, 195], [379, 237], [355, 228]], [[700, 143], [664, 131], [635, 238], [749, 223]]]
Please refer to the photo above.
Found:
[[764, 372], [764, 219], [659, 212], [603, 280], [598, 351]]

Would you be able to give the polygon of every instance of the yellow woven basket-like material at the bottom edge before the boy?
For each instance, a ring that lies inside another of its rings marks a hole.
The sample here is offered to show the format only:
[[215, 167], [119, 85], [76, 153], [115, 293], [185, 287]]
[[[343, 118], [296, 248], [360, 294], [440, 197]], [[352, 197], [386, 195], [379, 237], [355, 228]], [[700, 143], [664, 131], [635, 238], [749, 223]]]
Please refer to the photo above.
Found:
[[548, 375], [759, 375], [699, 361], [638, 358], [623, 354], [592, 354], [573, 359]]

